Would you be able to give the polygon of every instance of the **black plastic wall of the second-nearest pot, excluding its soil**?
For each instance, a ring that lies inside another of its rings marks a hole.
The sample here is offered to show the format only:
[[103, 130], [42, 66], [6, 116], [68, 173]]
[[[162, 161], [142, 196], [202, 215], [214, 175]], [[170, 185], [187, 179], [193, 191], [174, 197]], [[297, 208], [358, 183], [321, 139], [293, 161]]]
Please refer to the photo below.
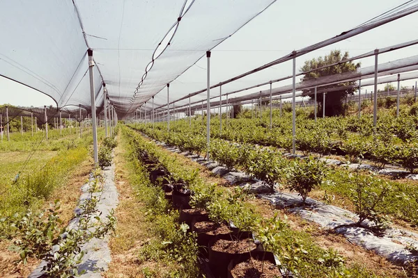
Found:
[[[217, 239], [218, 240], [218, 239]], [[239, 254], [233, 254], [228, 252], [219, 252], [212, 249], [212, 246], [217, 240], [212, 240], [209, 243], [208, 248], [208, 259], [209, 265], [213, 272], [215, 272], [219, 277], [226, 278], [228, 275], [228, 265], [232, 260], [239, 261], [242, 257], [249, 256], [250, 252], [255, 251], [250, 250], [249, 252], [243, 252]]]

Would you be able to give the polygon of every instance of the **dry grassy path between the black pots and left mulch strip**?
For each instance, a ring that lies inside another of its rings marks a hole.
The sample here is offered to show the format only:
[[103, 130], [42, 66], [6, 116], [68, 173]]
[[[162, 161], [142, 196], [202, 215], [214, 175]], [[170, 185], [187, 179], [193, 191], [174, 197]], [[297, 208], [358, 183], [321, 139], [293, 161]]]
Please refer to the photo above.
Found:
[[116, 184], [125, 199], [116, 210], [118, 237], [110, 244], [116, 259], [106, 276], [198, 277], [194, 236], [180, 226], [178, 212], [161, 188], [150, 183], [148, 171], [138, 159], [137, 144], [126, 129], [122, 129], [119, 142], [123, 153], [118, 154], [121, 164], [116, 165], [116, 177], [123, 180]]

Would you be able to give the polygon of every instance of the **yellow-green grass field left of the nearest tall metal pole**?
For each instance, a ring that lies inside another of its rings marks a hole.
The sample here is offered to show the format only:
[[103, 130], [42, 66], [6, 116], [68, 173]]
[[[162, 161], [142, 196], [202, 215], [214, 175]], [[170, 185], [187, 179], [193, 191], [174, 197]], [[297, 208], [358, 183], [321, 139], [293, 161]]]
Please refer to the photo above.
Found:
[[[54, 190], [65, 186], [72, 171], [91, 156], [91, 132], [84, 131], [82, 138], [78, 133], [62, 137], [59, 131], [49, 134], [49, 140], [42, 140], [41, 132], [33, 137], [31, 133], [23, 136], [15, 133], [9, 142], [0, 143], [0, 216], [28, 208], [37, 210]], [[104, 130], [99, 129], [98, 140], [103, 136]], [[17, 173], [20, 175], [15, 180]]]

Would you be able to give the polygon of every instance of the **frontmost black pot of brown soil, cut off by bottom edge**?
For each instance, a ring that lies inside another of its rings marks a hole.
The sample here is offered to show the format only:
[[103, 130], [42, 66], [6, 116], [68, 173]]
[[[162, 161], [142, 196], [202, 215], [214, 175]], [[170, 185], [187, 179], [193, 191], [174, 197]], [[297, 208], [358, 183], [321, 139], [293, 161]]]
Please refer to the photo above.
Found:
[[228, 278], [282, 277], [279, 261], [272, 252], [251, 252], [228, 265]]

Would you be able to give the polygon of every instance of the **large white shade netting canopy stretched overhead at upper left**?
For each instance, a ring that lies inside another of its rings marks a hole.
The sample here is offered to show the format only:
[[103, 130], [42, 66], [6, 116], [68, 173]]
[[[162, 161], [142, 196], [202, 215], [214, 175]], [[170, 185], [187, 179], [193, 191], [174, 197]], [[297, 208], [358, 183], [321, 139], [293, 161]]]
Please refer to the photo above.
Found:
[[[0, 75], [88, 108], [106, 83], [120, 117], [134, 111], [274, 0], [3, 1]], [[6, 28], [4, 28], [6, 27]]]

